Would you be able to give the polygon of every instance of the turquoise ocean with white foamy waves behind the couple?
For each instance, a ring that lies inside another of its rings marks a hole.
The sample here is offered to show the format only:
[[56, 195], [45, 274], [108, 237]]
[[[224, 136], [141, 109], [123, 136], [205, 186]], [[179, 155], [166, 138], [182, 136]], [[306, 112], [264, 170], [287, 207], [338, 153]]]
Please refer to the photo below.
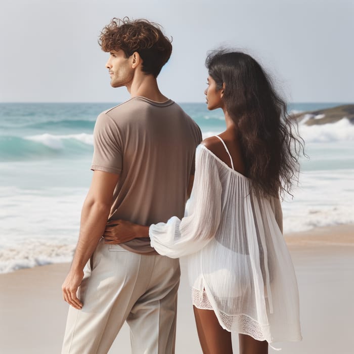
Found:
[[[0, 273], [70, 261], [90, 186], [92, 132], [112, 103], [0, 104]], [[203, 137], [225, 129], [221, 110], [180, 104]], [[336, 103], [291, 104], [301, 112]], [[299, 125], [308, 159], [282, 202], [284, 233], [354, 223], [354, 125]]]

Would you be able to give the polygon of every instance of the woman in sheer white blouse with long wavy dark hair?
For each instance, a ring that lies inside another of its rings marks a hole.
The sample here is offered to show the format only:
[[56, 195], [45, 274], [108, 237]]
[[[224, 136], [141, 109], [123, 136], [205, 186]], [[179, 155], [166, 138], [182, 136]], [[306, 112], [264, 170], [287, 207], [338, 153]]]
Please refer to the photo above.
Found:
[[196, 150], [186, 216], [150, 228], [115, 221], [105, 239], [119, 243], [117, 234], [150, 235], [160, 254], [188, 256], [204, 353], [232, 353], [231, 332], [239, 333], [241, 353], [267, 353], [268, 343], [301, 340], [279, 193], [290, 193], [302, 145], [284, 101], [253, 58], [217, 51], [206, 66], [207, 107], [223, 109], [227, 128]]

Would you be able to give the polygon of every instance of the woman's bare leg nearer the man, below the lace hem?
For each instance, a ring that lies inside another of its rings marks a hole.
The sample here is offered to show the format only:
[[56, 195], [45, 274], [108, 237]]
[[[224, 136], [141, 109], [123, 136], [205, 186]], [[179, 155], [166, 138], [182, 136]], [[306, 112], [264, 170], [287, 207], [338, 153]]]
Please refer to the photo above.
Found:
[[203, 354], [232, 354], [231, 333], [220, 326], [215, 313], [193, 306]]

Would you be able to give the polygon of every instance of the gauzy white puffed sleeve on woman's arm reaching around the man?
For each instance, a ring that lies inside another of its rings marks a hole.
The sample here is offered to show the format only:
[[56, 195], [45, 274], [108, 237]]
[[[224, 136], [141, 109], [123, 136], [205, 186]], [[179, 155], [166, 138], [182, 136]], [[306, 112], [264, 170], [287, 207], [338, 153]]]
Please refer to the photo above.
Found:
[[220, 222], [222, 186], [215, 158], [198, 146], [196, 171], [187, 216], [151, 225], [151, 246], [171, 258], [202, 249], [215, 236]]

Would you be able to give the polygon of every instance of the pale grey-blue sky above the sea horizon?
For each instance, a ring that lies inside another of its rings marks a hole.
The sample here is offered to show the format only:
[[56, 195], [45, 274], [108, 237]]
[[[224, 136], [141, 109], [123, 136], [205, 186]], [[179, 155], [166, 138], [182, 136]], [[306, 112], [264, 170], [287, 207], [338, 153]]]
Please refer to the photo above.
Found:
[[204, 102], [208, 51], [243, 50], [288, 102], [354, 102], [352, 0], [3, 0], [0, 102], [122, 102], [98, 36], [113, 17], [146, 18], [172, 36], [161, 92]]

